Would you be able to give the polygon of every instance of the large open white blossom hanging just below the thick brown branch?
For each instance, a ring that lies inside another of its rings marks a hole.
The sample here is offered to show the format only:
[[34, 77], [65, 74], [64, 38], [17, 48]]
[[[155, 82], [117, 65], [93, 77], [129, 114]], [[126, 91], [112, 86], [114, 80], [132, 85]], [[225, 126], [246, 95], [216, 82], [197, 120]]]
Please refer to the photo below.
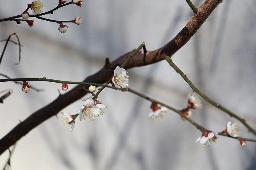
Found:
[[82, 98], [84, 101], [84, 105], [81, 107], [79, 111], [80, 121], [88, 121], [92, 122], [99, 115], [103, 115], [103, 108], [107, 108], [106, 105], [102, 104], [102, 102], [98, 99], [93, 100], [91, 97]]

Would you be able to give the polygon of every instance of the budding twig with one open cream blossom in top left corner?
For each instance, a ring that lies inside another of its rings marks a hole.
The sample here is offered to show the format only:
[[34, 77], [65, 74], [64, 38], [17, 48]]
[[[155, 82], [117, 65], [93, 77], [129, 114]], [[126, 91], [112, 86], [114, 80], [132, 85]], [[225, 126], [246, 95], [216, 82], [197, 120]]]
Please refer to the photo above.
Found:
[[[59, 0], [58, 6], [56, 8], [58, 9], [58, 8], [62, 7], [65, 3], [66, 3], [66, 0]], [[82, 2], [82, 0], [72, 0], [72, 2], [69, 2], [69, 4], [76, 4], [77, 6], [82, 6], [83, 2]], [[20, 24], [20, 21], [25, 21], [28, 23], [28, 25], [30, 27], [34, 26], [34, 20], [29, 20], [30, 14], [29, 14], [28, 10], [31, 9], [32, 13], [34, 14], [32, 17], [36, 17], [40, 20], [46, 20], [49, 22], [57, 22], [60, 25], [58, 28], [59, 32], [61, 32], [61, 33], [67, 32], [68, 26], [64, 25], [61, 21], [50, 20], [50, 19], [40, 17], [42, 15], [49, 14], [49, 13], [53, 14], [53, 11], [56, 10], [56, 9], [54, 9], [49, 12], [46, 12], [45, 14], [42, 14], [44, 12], [43, 8], [44, 8], [44, 3], [41, 2], [40, 0], [35, 0], [31, 4], [28, 4], [28, 8], [24, 12], [22, 12], [21, 17], [23, 18], [23, 20], [21, 20], [21, 19], [13, 19], [13, 20], [16, 21], [17, 24]], [[75, 24], [79, 25], [79, 24], [81, 24], [82, 19], [80, 17], [76, 17], [74, 20], [66, 21], [66, 22], [74, 22]]]

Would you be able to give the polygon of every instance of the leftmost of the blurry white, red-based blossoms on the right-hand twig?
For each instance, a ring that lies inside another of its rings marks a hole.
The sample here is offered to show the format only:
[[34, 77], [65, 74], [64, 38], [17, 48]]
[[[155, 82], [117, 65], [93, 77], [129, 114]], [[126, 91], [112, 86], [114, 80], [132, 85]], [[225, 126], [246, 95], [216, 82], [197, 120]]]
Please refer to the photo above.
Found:
[[150, 109], [152, 109], [152, 112], [149, 113], [148, 118], [152, 121], [158, 118], [163, 118], [168, 111], [168, 108], [161, 105], [158, 106], [158, 104], [154, 102], [150, 105]]

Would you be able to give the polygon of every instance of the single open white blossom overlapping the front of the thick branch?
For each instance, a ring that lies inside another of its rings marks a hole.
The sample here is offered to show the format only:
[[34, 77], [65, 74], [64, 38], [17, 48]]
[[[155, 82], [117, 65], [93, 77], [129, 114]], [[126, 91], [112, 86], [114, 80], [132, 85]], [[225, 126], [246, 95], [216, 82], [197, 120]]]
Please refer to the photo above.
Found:
[[120, 68], [119, 66], [116, 67], [114, 70], [114, 76], [112, 78], [112, 82], [115, 87], [118, 88], [126, 88], [129, 84], [129, 75], [124, 68]]

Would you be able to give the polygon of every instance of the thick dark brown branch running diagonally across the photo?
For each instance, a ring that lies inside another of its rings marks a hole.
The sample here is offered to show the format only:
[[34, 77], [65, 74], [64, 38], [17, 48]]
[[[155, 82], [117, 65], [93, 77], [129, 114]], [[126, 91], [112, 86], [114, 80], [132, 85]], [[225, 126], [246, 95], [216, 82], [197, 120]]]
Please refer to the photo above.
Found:
[[[196, 31], [220, 2], [222, 2], [222, 0], [206, 0], [204, 4], [198, 8], [198, 12], [194, 14], [188, 24], [178, 33], [175, 38], [159, 49], [148, 51], [146, 53], [145, 62], [143, 61], [144, 55], [142, 53], [137, 53], [134, 55], [134, 57], [132, 57], [125, 68], [129, 69], [132, 67], [153, 64], [165, 59], [166, 55], [172, 56], [190, 40], [190, 38], [196, 33]], [[130, 54], [131, 52], [126, 53], [113, 62], [109, 62], [108, 59], [106, 59], [106, 65], [94, 75], [87, 77], [84, 81], [92, 83], [105, 83], [108, 81], [108, 79], [110, 79], [110, 77], [112, 77], [115, 67], [117, 65], [122, 65], [124, 60]], [[88, 88], [84, 85], [77, 85], [74, 89], [68, 91], [64, 95], [60, 95], [57, 99], [52, 101], [52, 103], [36, 111], [26, 120], [14, 127], [0, 140], [0, 154], [2, 154], [6, 149], [12, 146], [22, 136], [26, 135], [30, 130], [38, 126], [40, 123], [56, 115], [63, 108], [86, 95], [87, 92], [83, 89], [84, 87]]]

